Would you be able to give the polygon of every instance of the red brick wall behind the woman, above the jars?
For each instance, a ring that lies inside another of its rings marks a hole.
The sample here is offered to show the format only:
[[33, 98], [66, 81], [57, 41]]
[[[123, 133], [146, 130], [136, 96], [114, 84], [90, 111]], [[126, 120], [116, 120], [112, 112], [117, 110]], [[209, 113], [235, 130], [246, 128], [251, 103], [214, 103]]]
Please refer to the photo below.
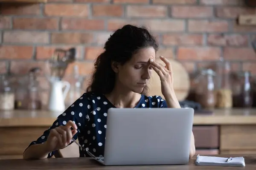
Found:
[[[123, 24], [147, 26], [160, 52], [189, 72], [220, 58], [233, 69], [256, 74], [250, 42], [256, 26], [239, 26], [239, 14], [256, 14], [244, 0], [48, 0], [46, 4], [0, 5], [0, 73], [25, 74], [56, 47], [76, 47], [86, 77], [111, 31]], [[67, 70], [70, 74], [72, 65]], [[44, 82], [44, 81], [43, 81]]]

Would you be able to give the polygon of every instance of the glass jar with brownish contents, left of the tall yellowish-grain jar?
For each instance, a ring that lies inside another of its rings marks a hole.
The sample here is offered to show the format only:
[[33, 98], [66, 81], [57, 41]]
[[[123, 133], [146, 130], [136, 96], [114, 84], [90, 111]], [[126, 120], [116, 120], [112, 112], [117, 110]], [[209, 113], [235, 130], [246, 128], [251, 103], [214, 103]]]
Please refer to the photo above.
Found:
[[212, 69], [205, 69], [197, 77], [198, 85], [195, 89], [195, 99], [205, 109], [212, 109], [216, 104], [214, 76], [215, 72]]

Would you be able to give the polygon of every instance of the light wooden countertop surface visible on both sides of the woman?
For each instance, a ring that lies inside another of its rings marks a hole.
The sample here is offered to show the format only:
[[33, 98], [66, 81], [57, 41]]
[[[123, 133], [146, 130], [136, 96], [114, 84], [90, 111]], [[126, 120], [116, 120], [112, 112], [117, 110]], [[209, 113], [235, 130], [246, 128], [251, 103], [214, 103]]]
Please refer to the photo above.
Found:
[[[0, 111], [0, 127], [51, 126], [62, 112]], [[194, 114], [194, 125], [250, 125], [256, 124], [256, 108], [216, 109], [213, 113]]]

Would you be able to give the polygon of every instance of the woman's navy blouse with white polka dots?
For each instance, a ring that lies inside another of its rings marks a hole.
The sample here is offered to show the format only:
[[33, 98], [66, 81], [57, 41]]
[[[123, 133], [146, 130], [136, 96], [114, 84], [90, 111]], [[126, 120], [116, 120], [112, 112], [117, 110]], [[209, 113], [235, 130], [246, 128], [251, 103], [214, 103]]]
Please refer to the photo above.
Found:
[[[89, 156], [85, 149], [89, 149], [95, 156], [104, 156], [109, 108], [115, 108], [115, 106], [104, 95], [84, 93], [64, 113], [58, 116], [42, 136], [31, 142], [29, 146], [46, 142], [51, 129], [60, 125], [64, 126], [69, 120], [72, 120], [78, 127], [78, 133], [73, 138], [78, 139], [81, 146], [84, 146], [79, 148], [80, 157]], [[135, 108], [167, 108], [167, 104], [160, 96], [142, 95]], [[48, 158], [52, 157], [54, 152], [49, 153]]]

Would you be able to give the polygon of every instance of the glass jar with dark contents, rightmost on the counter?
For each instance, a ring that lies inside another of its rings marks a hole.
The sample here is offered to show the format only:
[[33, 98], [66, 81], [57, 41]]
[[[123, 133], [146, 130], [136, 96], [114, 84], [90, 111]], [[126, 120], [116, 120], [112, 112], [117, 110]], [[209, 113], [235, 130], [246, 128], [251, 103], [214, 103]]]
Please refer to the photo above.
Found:
[[238, 75], [238, 83], [233, 83], [233, 107], [251, 108], [253, 105], [253, 90], [250, 82], [250, 71]]

